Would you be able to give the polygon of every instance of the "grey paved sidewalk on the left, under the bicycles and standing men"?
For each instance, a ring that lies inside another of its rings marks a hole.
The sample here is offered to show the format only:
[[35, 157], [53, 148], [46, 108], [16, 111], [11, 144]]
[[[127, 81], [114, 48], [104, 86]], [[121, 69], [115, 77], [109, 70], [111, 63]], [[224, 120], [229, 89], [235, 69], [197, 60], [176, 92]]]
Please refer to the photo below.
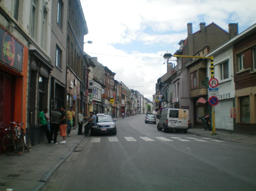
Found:
[[0, 190], [41, 190], [56, 169], [85, 139], [84, 135], [77, 135], [77, 129], [72, 130], [70, 135], [66, 137], [66, 144], [59, 143], [62, 137], [58, 135], [57, 145], [43, 141], [33, 146], [30, 153], [25, 150], [22, 156], [16, 153], [12, 156], [1, 154]]

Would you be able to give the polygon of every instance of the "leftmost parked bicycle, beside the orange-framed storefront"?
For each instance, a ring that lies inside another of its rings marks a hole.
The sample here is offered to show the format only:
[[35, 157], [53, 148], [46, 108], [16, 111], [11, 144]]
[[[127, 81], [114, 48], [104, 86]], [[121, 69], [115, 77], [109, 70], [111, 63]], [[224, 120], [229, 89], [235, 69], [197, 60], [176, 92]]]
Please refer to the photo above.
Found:
[[16, 122], [10, 122], [9, 125], [2, 125], [2, 127], [7, 127], [5, 130], [9, 131], [9, 134], [5, 135], [5, 137], [3, 137], [2, 139], [2, 149], [3, 152], [5, 152], [7, 155], [13, 155], [15, 153], [14, 150], [14, 129], [12, 127], [12, 124], [14, 124]]

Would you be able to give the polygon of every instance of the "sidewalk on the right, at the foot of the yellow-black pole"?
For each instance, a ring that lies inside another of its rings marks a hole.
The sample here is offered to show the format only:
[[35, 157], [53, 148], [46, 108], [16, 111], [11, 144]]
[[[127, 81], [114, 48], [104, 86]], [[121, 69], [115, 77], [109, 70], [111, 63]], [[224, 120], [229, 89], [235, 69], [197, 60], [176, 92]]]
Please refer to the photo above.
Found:
[[211, 137], [211, 138], [224, 140], [224, 141], [232, 141], [232, 142], [256, 145], [256, 135], [255, 134], [236, 133], [233, 131], [216, 129], [217, 135], [211, 135], [212, 131], [204, 130], [203, 128], [193, 128], [193, 127], [191, 129], [189, 129], [187, 132], [191, 133], [191, 134], [196, 134], [199, 136]]

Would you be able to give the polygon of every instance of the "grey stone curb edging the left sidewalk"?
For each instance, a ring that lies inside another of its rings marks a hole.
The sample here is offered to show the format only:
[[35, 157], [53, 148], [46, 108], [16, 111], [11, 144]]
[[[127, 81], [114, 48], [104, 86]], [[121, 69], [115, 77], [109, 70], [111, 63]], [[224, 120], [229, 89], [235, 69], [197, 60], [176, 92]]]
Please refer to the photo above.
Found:
[[72, 152], [78, 147], [78, 145], [85, 139], [85, 137], [80, 138], [76, 144], [69, 149], [68, 152], [62, 155], [62, 157], [52, 165], [52, 167], [47, 170], [47, 172], [41, 177], [41, 179], [30, 189], [30, 191], [41, 191], [45, 187], [45, 184], [49, 182], [49, 180], [52, 178], [53, 174], [58, 170], [58, 168], [64, 163]]

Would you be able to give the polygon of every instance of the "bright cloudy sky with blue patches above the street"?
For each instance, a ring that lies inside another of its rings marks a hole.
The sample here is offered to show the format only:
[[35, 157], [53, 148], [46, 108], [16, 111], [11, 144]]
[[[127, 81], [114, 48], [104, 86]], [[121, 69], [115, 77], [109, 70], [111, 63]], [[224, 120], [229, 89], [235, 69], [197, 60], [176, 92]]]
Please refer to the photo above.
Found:
[[[255, 0], [81, 0], [89, 33], [84, 51], [116, 73], [115, 79], [140, 91], [152, 101], [157, 79], [167, 71], [164, 55], [179, 49], [199, 23], [214, 22], [228, 31], [239, 24], [239, 33], [256, 23]], [[106, 56], [113, 55], [113, 56]]]

